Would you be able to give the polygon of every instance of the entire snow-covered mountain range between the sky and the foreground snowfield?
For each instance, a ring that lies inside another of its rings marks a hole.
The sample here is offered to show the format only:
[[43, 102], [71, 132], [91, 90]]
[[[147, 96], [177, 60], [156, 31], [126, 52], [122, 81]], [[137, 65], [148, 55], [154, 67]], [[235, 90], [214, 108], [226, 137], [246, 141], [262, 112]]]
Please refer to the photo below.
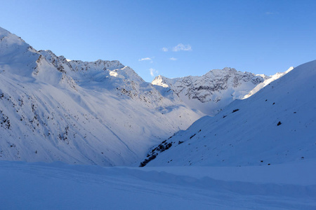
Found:
[[117, 60], [68, 60], [0, 28], [0, 160], [239, 166], [315, 158], [315, 76], [314, 61], [273, 76], [226, 67], [147, 83]]

